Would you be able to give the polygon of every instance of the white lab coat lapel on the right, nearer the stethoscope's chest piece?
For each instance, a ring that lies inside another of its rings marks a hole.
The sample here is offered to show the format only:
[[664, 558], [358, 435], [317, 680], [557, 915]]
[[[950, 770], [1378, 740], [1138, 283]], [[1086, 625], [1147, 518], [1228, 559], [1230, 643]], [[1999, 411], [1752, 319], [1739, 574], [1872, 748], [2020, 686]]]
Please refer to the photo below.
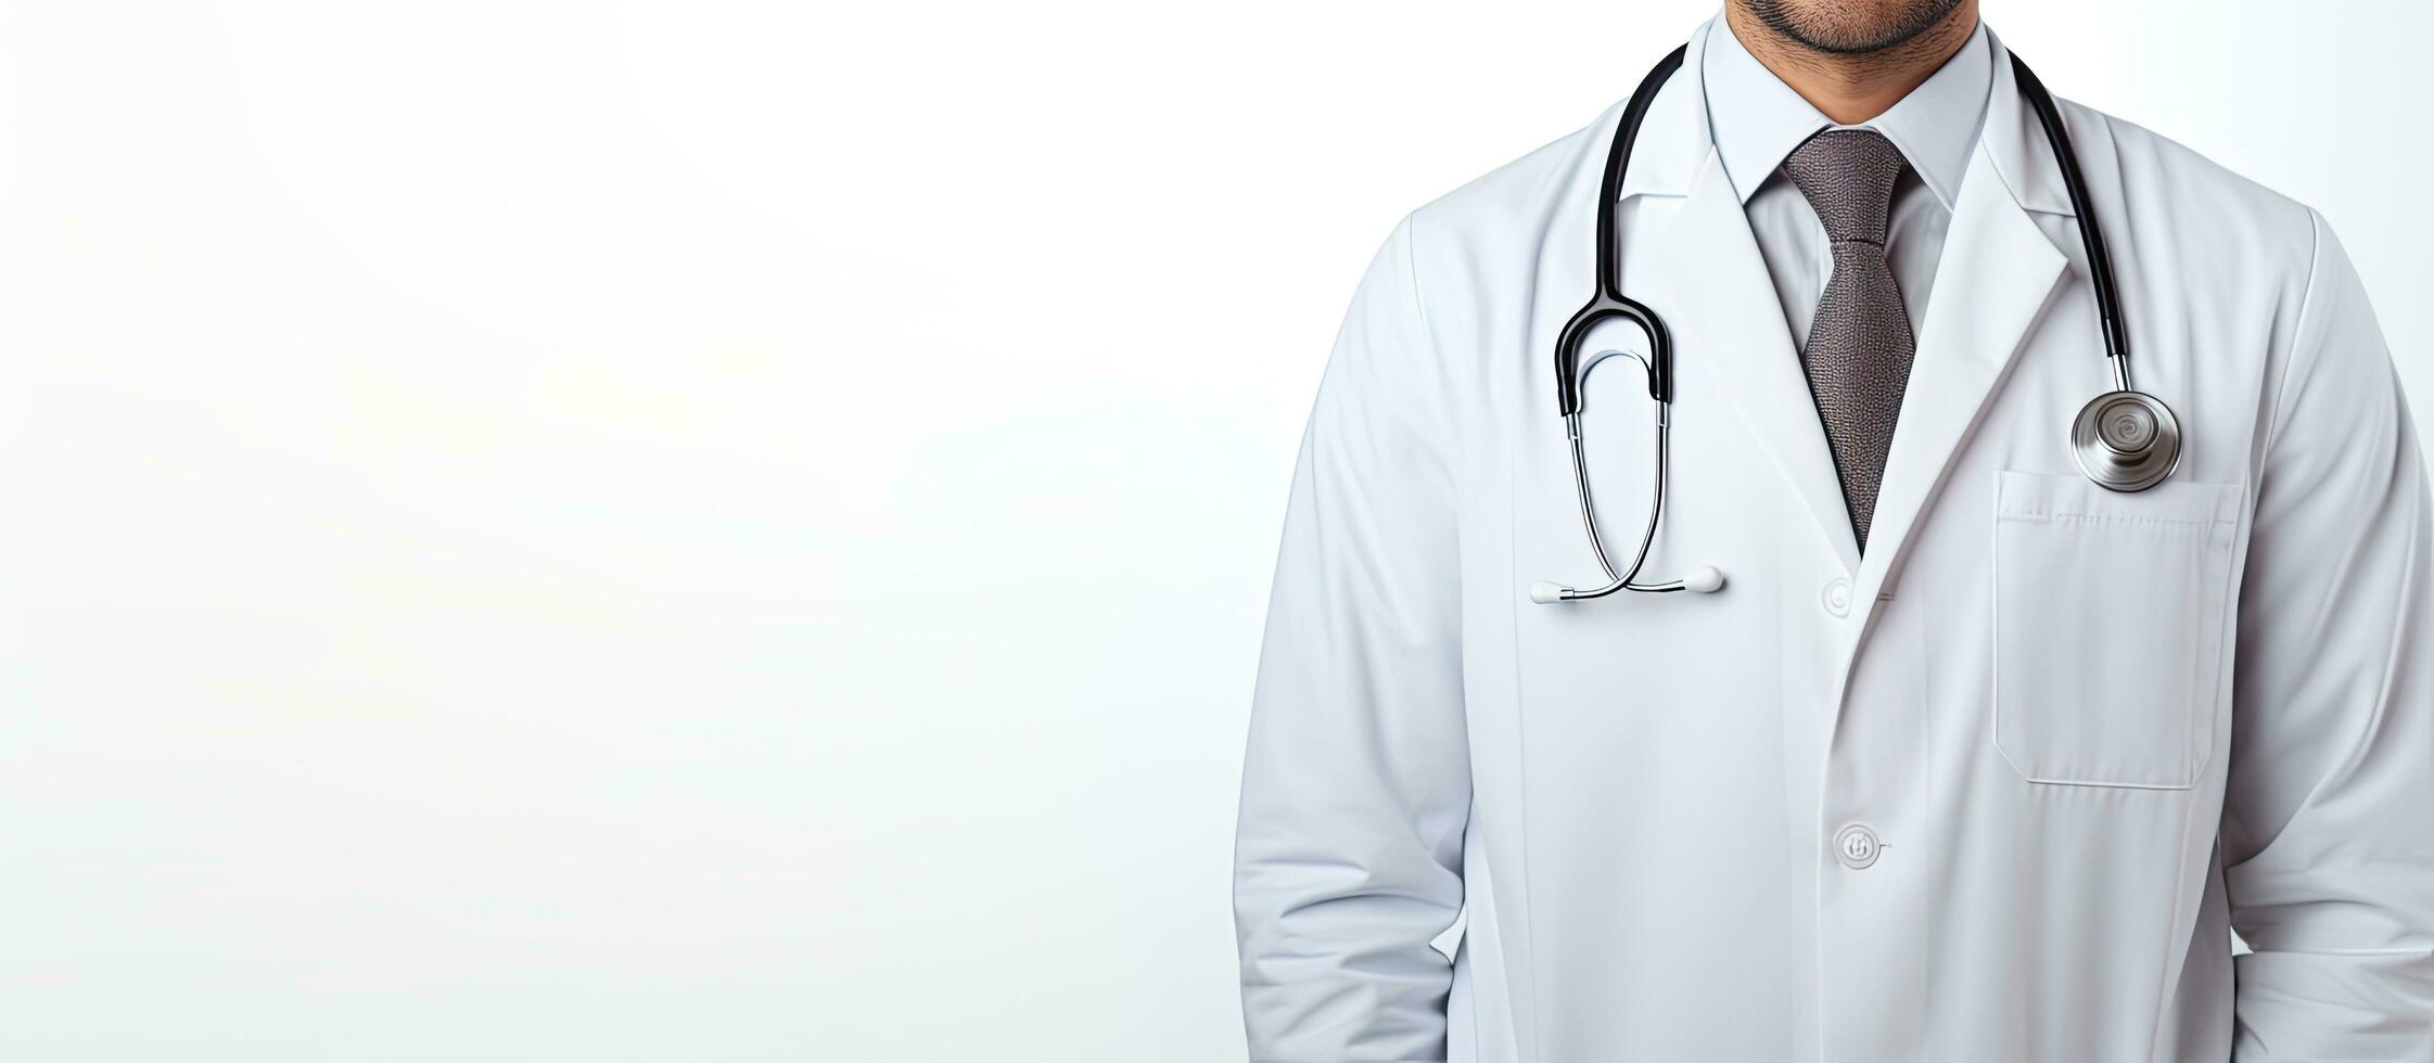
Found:
[[2028, 151], [2042, 151], [2042, 144], [2028, 141], [2037, 134], [2023, 129], [2008, 58], [1998, 58], [1996, 68], [1979, 148], [1935, 265], [1935, 294], [1884, 460], [1867, 557], [1852, 579], [1864, 611], [1877, 608], [1877, 596], [1899, 572], [1920, 513], [1935, 501], [1989, 394], [2030, 343], [2030, 326], [2069, 263], [2013, 190], [2018, 185], [2037, 197], [2047, 175], [2030, 163], [2035, 156]]

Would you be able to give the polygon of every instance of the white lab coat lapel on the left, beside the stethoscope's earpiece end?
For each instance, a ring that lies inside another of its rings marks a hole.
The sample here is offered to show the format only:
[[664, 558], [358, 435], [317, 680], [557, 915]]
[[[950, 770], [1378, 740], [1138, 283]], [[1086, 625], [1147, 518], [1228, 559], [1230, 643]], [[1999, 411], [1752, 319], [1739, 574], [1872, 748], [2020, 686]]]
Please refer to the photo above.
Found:
[[1740, 195], [1714, 151], [1660, 248], [1650, 260], [1662, 268], [1653, 270], [1648, 292], [1650, 306], [1675, 333], [1677, 372], [1689, 377], [1677, 404], [1687, 414], [1701, 401], [1696, 377], [1711, 367], [1718, 379], [1709, 387], [1740, 411], [1843, 559], [1843, 572], [1852, 572], [1860, 545], [1826, 448], [1826, 426], [1791, 345], [1782, 299], [1757, 253], [1757, 236], [1750, 234]]

